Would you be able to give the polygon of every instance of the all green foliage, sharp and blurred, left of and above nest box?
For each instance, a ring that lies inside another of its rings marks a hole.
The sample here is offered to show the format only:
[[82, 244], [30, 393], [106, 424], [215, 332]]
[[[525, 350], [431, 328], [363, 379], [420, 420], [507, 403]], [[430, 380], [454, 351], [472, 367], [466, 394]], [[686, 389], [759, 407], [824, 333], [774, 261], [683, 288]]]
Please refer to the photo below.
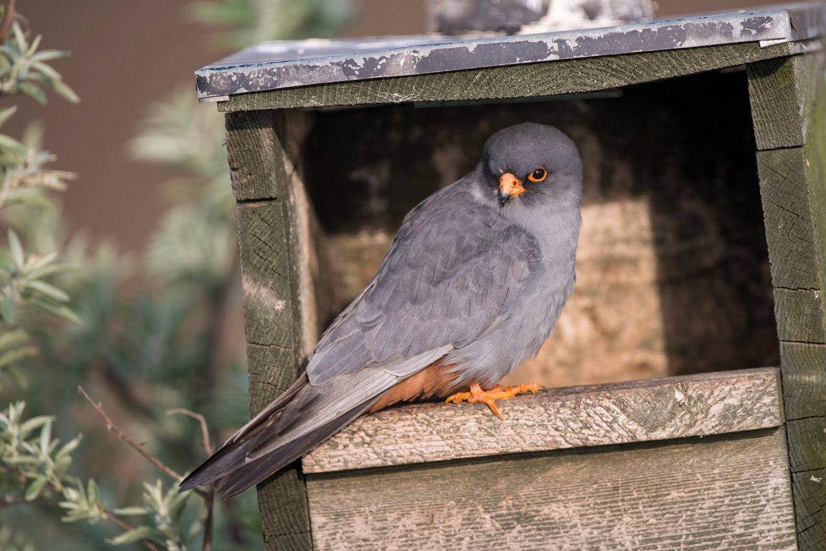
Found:
[[[219, 38], [233, 47], [330, 36], [349, 12], [349, 0], [202, 0], [191, 10], [225, 26]], [[67, 54], [39, 51], [40, 37], [30, 40], [17, 21], [8, 28], [0, 95], [45, 102], [51, 90], [77, 101], [48, 64]], [[0, 125], [14, 112], [0, 108]], [[74, 389], [97, 385], [140, 433], [142, 448], [179, 472], [204, 458], [201, 434], [192, 420], [164, 411], [203, 411], [211, 430], [248, 418], [244, 349], [233, 347], [225, 326], [233, 314], [240, 324], [241, 297], [223, 117], [198, 105], [190, 86], [150, 106], [129, 150], [176, 176], [164, 186], [169, 210], [149, 245], [129, 255], [66, 235], [53, 192], [74, 174], [50, 169], [55, 156], [41, 149], [41, 136], [36, 126], [19, 140], [0, 134], [0, 382], [13, 383], [0, 387], [12, 404], [0, 414], [0, 519], [16, 526], [0, 528], [0, 549], [34, 551], [55, 536], [64, 549], [69, 540], [74, 549], [193, 549], [208, 540], [212, 511], [174, 483], [145, 482], [143, 460], [121, 458], [94, 425], [81, 440]], [[23, 397], [35, 412], [29, 418]], [[263, 546], [254, 492], [215, 509], [216, 549]], [[64, 523], [50, 522], [58, 518]]]

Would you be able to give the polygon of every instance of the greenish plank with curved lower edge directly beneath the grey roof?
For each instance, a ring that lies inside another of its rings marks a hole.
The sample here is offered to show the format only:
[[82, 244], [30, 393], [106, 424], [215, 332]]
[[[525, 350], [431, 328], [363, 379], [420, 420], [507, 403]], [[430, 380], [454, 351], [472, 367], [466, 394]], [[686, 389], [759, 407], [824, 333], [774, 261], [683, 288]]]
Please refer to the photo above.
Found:
[[231, 112], [593, 92], [787, 56], [791, 48], [790, 43], [767, 48], [761, 48], [757, 43], [730, 44], [376, 78], [238, 94], [221, 102], [218, 109]]

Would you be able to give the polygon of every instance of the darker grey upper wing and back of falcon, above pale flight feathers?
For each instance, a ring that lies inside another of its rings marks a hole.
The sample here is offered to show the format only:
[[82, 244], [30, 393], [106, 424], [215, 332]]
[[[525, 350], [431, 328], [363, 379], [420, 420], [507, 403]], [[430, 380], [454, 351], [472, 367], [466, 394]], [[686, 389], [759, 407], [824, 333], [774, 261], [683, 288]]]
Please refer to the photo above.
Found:
[[[453, 193], [462, 192], [464, 202], [446, 204], [437, 193], [406, 218], [368, 288], [321, 336], [307, 366], [311, 384], [461, 347], [501, 316], [538, 265], [539, 245], [518, 226], [486, 223], [498, 207], [472, 204], [468, 190]], [[324, 354], [334, 345], [335, 358]], [[346, 361], [348, 349], [367, 350], [368, 362], [363, 354]]]

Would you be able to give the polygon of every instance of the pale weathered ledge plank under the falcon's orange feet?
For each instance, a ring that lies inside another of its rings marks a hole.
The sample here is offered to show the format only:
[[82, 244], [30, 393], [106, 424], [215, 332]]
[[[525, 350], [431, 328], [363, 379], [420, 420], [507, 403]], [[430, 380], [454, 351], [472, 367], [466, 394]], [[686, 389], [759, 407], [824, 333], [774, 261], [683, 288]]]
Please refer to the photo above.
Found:
[[555, 388], [501, 402], [366, 416], [303, 458], [305, 473], [714, 435], [782, 422], [776, 368]]

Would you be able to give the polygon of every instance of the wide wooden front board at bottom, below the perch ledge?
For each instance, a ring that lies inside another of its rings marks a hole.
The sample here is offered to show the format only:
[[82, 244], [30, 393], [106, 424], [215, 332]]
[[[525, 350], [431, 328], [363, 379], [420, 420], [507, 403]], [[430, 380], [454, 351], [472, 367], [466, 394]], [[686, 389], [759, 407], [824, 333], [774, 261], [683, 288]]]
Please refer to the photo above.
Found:
[[307, 479], [316, 549], [792, 551], [782, 429]]

